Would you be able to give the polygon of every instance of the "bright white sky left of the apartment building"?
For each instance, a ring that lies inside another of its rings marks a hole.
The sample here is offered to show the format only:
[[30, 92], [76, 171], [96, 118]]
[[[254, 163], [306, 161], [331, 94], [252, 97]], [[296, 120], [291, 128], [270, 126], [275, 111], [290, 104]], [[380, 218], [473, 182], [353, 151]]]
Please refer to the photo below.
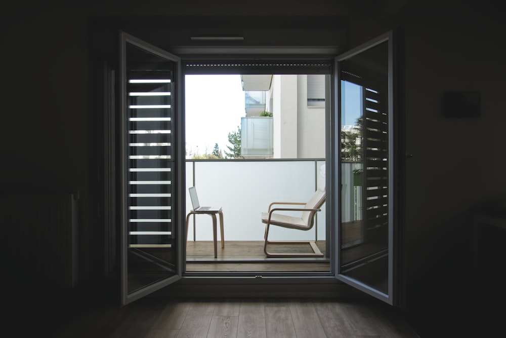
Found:
[[246, 115], [241, 76], [186, 75], [185, 82], [188, 151], [211, 154], [218, 143], [222, 152], [229, 152], [228, 133], [237, 131]]

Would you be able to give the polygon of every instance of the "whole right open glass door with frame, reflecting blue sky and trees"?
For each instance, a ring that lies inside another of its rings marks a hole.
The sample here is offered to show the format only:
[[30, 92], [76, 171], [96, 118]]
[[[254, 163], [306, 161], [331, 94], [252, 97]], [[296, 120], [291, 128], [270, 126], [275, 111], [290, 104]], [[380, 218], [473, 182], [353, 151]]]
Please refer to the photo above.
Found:
[[[394, 291], [392, 33], [335, 59], [336, 278], [386, 303]], [[337, 129], [337, 128], [336, 128]]]

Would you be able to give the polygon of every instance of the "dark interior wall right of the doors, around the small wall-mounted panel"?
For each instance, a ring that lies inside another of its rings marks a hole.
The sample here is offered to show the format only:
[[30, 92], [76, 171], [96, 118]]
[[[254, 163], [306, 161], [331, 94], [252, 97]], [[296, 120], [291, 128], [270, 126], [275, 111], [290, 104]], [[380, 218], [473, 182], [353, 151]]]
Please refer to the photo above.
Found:
[[[484, 296], [470, 277], [473, 212], [506, 209], [506, 49], [503, 20], [486, 3], [452, 5], [413, 9], [403, 18], [406, 150], [413, 155], [406, 163], [406, 272], [411, 307], [426, 305], [416, 309], [423, 312], [437, 302], [431, 317], [461, 321], [460, 310], [492, 304], [486, 297], [500, 293], [489, 286]], [[480, 117], [443, 117], [445, 91], [479, 92]]]

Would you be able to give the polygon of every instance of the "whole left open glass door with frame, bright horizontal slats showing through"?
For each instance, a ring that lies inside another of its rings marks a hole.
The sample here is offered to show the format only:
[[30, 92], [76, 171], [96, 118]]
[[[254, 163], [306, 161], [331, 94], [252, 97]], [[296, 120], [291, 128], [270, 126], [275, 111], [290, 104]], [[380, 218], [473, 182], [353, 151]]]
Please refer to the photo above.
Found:
[[121, 303], [182, 275], [180, 58], [120, 33]]

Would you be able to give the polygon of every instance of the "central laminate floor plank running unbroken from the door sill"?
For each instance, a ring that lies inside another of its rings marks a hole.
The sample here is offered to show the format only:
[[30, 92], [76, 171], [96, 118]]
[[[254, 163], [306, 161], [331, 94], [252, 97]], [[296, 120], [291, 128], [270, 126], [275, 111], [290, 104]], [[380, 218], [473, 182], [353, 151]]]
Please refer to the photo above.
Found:
[[245, 299], [241, 302], [237, 337], [267, 338], [265, 306], [261, 299]]

